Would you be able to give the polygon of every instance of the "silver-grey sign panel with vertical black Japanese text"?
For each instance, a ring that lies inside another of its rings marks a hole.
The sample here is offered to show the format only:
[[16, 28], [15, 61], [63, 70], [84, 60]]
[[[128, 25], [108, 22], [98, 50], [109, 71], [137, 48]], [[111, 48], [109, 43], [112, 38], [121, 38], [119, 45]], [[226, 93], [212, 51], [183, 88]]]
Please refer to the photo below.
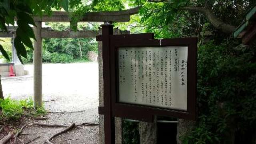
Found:
[[187, 67], [187, 46], [119, 48], [119, 102], [187, 110]]

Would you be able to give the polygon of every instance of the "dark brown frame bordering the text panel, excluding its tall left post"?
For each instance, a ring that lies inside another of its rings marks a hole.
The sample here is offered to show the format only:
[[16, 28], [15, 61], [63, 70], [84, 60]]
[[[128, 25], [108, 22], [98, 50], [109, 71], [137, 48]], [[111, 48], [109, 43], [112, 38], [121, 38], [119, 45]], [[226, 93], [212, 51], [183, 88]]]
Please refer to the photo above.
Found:
[[[196, 53], [197, 38], [174, 39], [120, 39], [110, 36], [110, 82], [112, 116], [134, 120], [153, 121], [153, 116], [172, 116], [196, 120]], [[137, 104], [120, 103], [118, 98], [118, 48], [188, 46], [188, 109], [175, 110]]]

